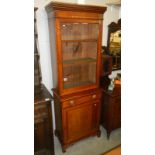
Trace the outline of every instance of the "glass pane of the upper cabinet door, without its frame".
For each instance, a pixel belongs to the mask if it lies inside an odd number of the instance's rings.
[[[99,24],[61,23],[63,89],[96,83]]]

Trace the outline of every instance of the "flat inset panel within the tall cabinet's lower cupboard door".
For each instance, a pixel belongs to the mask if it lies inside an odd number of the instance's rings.
[[[74,140],[91,131],[92,114],[92,104],[70,108],[66,111],[68,140]]]

